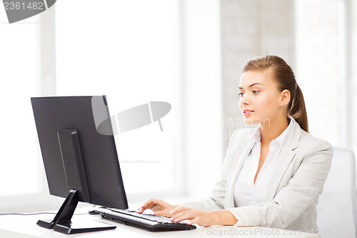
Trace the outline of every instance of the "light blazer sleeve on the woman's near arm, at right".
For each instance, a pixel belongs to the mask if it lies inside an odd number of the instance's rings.
[[[318,139],[313,152],[302,159],[286,187],[278,191],[272,202],[258,206],[229,209],[238,219],[236,226],[262,226],[285,229],[311,206],[323,189],[331,167],[331,144]]]

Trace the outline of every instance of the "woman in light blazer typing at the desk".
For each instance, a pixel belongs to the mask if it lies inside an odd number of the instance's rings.
[[[211,196],[181,206],[149,199],[151,209],[174,222],[262,226],[317,232],[316,204],[333,149],[308,134],[303,94],[278,56],[247,61],[239,83],[240,109],[255,129],[233,132]]]

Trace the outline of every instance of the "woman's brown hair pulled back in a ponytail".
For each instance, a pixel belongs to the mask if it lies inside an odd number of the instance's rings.
[[[308,115],[306,114],[303,92],[296,83],[291,67],[280,57],[267,55],[247,61],[243,66],[242,72],[263,69],[269,69],[269,71],[272,72],[273,80],[276,81],[280,91],[283,91],[284,89],[290,91],[291,99],[288,104],[287,113],[288,115],[293,116],[293,119],[298,122],[301,129],[308,132]]]

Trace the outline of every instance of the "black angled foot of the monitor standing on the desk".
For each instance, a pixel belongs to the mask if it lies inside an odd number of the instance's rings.
[[[64,200],[59,212],[57,212],[54,219],[51,220],[39,220],[37,224],[40,227],[44,227],[47,229],[54,229],[56,232],[61,232],[64,234],[77,234],[77,233],[84,233],[84,232],[97,232],[97,231],[104,231],[107,229],[115,229],[116,226],[111,224],[106,224],[104,222],[96,222],[94,227],[75,227],[72,222],[71,218],[73,217],[74,210],[77,207],[79,202],[79,194],[76,190],[70,190],[69,195]]]

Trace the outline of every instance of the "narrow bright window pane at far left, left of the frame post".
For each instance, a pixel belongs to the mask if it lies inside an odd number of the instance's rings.
[[[38,193],[39,151],[31,96],[36,96],[37,18],[9,24],[0,11],[1,197]]]

